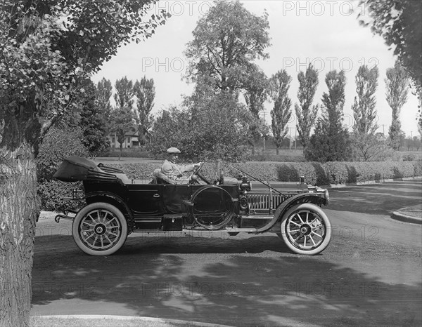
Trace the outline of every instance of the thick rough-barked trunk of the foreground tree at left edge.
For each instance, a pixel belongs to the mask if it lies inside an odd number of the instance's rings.
[[[30,145],[0,154],[0,326],[28,326],[40,212],[36,163]]]

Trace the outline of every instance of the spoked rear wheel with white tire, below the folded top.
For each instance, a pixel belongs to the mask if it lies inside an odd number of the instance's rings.
[[[91,203],[77,213],[72,224],[76,245],[89,255],[110,255],[127,239],[127,222],[110,203]]]

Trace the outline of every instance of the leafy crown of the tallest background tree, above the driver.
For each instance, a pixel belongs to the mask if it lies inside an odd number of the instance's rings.
[[[268,58],[264,53],[269,46],[267,16],[253,15],[239,1],[215,1],[198,20],[193,41],[187,45],[188,79],[198,82],[207,76],[207,83],[219,91],[243,89],[255,71],[253,61]]]

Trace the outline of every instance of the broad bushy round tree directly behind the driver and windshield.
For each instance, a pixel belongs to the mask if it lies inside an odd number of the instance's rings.
[[[153,126],[150,149],[160,156],[177,145],[185,159],[237,161],[248,158],[248,129],[253,121],[248,109],[229,93],[194,93],[185,100],[189,107],[171,107]]]

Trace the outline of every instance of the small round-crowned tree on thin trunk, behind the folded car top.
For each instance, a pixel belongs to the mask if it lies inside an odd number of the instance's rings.
[[[115,133],[117,142],[120,143],[119,160],[122,156],[126,133],[135,129],[134,118],[134,112],[128,107],[117,107],[110,113],[110,120],[108,121],[110,131]]]

